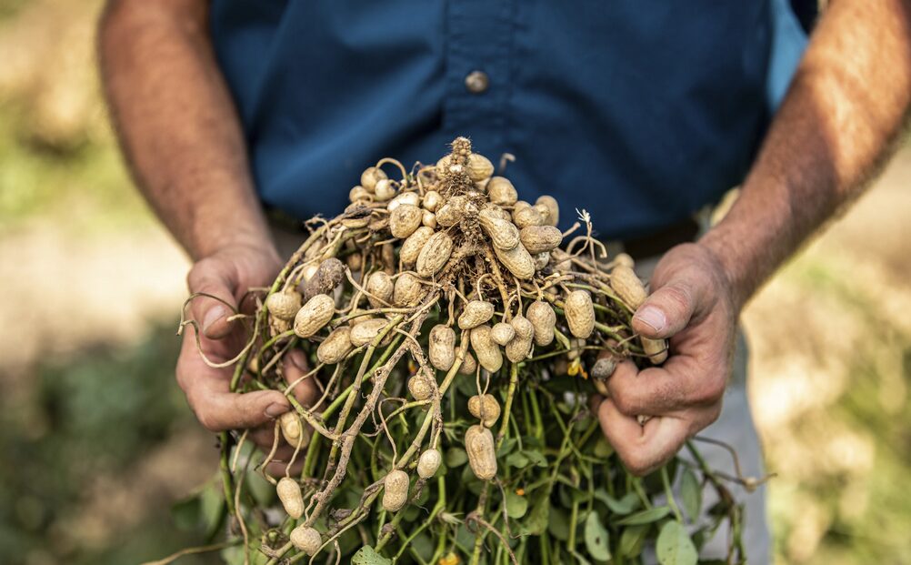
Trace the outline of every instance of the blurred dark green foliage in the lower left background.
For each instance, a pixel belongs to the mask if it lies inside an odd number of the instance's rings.
[[[46,360],[29,375],[27,402],[0,402],[4,563],[119,565],[204,541],[195,523],[175,527],[170,500],[141,492],[157,490],[150,454],[195,432],[174,385],[178,345],[174,324],[159,325],[128,349],[97,344]],[[214,439],[207,447],[214,453]]]

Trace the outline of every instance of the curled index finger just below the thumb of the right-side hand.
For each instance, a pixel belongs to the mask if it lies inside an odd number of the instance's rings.
[[[643,370],[631,361],[617,366],[607,385],[614,406],[626,416],[661,416],[693,406],[711,406],[724,394],[726,375],[719,363],[674,355],[660,367]]]

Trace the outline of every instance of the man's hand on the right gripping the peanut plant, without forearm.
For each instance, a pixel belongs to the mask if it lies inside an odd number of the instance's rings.
[[[644,475],[718,418],[731,373],[738,308],[722,265],[698,243],[670,250],[651,279],[633,329],[670,338],[660,367],[617,366],[609,398],[595,400],[601,429],[630,472]],[[640,426],[637,416],[651,416]]]

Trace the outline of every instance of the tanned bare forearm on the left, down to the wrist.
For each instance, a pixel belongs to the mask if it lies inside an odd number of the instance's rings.
[[[271,246],[207,12],[201,0],[112,0],[99,35],[130,170],[194,260],[230,245]]]

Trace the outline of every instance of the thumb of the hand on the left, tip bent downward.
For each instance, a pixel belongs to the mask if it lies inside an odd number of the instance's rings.
[[[200,296],[190,304],[190,312],[200,324],[202,333],[211,339],[220,339],[230,334],[234,324],[228,318],[237,311],[237,300],[234,297],[237,276],[233,269],[225,262],[203,259],[190,269],[187,285],[190,293],[211,294],[220,299]]]

